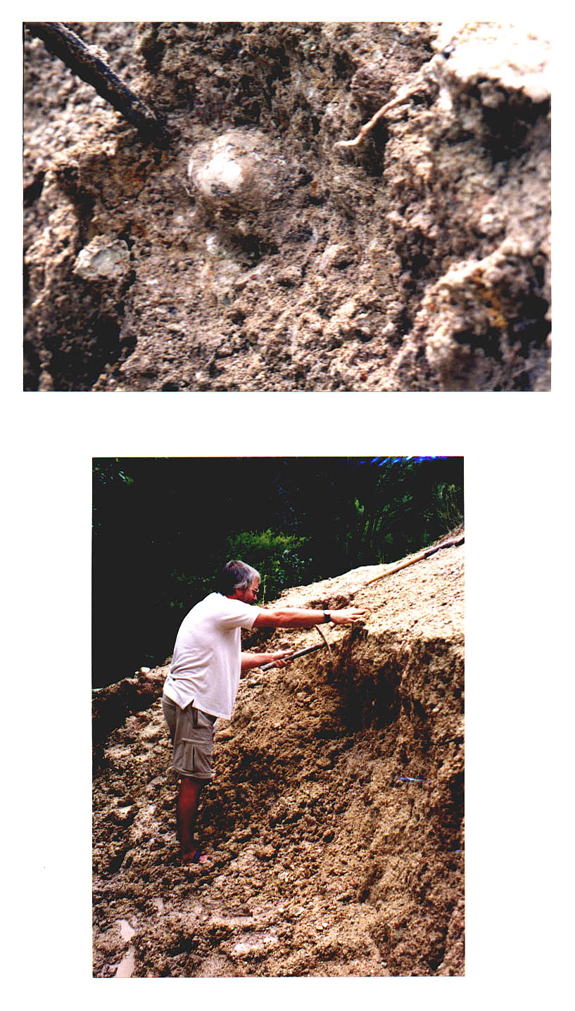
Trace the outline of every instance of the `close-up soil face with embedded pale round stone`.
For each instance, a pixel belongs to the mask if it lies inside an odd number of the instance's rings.
[[[173,140],[145,147],[26,39],[26,389],[550,387],[545,39],[71,26]]]

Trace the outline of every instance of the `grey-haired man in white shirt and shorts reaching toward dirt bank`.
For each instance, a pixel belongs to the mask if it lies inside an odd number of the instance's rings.
[[[218,591],[209,593],[184,618],[176,638],[162,706],[174,746],[174,768],[180,775],[177,801],[182,864],[208,860],[194,841],[203,787],[213,777],[211,754],[217,717],[229,720],[243,670],[275,663],[283,667],[293,651],[243,653],[241,629],[301,629],[333,622],[348,625],[364,612],[311,611],[256,607],[260,573],[242,561],[230,561]]]

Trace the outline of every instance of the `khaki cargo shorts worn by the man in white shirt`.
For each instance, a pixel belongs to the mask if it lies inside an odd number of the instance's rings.
[[[192,703],[182,709],[168,696],[162,696],[162,709],[174,745],[176,772],[194,779],[213,779],[211,754],[215,716],[195,709]]]

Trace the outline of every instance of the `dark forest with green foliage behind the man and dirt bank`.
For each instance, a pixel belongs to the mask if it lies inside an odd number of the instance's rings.
[[[261,571],[266,603],[462,521],[462,457],[94,459],[94,687],[163,663],[229,558]]]

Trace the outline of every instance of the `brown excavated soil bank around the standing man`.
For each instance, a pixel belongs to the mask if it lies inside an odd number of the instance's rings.
[[[282,596],[366,621],[241,682],[200,809],[209,865],[178,862],[168,667],[94,693],[96,977],[463,975],[464,548],[365,585],[381,571]]]

